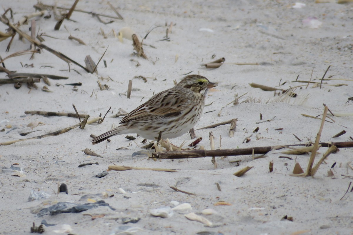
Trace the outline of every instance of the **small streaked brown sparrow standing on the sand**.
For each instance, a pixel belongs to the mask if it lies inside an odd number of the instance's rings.
[[[152,96],[121,119],[120,126],[92,140],[100,143],[113,135],[137,133],[146,139],[175,138],[189,131],[200,119],[207,90],[217,86],[207,78],[188,75],[177,85]]]

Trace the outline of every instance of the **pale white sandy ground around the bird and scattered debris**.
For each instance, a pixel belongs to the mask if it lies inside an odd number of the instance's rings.
[[[44,1],[54,4],[54,1]],[[58,6],[71,7],[73,1],[58,1]],[[54,31],[56,21],[38,19],[37,31],[53,37],[44,37],[46,44],[53,49],[84,64],[86,55],[90,55],[97,62],[109,45],[104,60],[98,65],[98,74],[87,74],[76,65],[71,64],[71,72],[67,64],[53,54],[42,51],[33,60],[30,55],[20,56],[5,61],[9,70],[26,73],[48,73],[67,76],[68,80],[50,80],[49,89],[52,93],[41,89],[29,91],[25,85],[16,90],[13,85],[0,86],[0,121],[8,120],[12,128],[5,128],[2,124],[0,142],[24,138],[19,133],[35,131],[25,137],[54,132],[78,123],[75,118],[46,117],[40,115],[25,115],[26,110],[42,110],[52,112],[72,113],[72,104],[79,113],[89,114],[91,118],[100,113],[104,115],[112,106],[114,114],[119,108],[130,112],[142,102],[151,97],[153,92],[160,92],[173,86],[173,80],[179,81],[183,74],[199,73],[212,82],[217,82],[217,91],[209,92],[205,113],[195,128],[211,123],[217,123],[232,118],[238,118],[237,132],[233,138],[228,137],[229,125],[214,129],[196,131],[197,137],[204,139],[200,143],[205,149],[210,149],[209,131],[215,136],[218,148],[219,137],[222,136],[222,149],[233,149],[257,146],[275,146],[284,144],[298,144],[297,135],[303,141],[315,141],[321,121],[307,118],[301,114],[320,115],[323,113],[322,104],[325,103],[331,111],[338,113],[352,113],[353,102],[346,103],[348,97],[353,96],[352,81],[333,80],[324,81],[322,89],[310,84],[291,82],[299,75],[299,80],[321,79],[329,65],[331,68],[325,78],[353,79],[352,73],[352,36],[353,36],[353,4],[315,4],[305,1],[303,8],[294,9],[295,1],[110,1],[118,7],[124,20],[114,20],[112,24],[102,24],[89,14],[74,12],[71,19],[63,23],[59,31]],[[1,7],[11,7],[14,12],[14,22],[25,14],[34,12],[32,6],[35,0],[2,1]],[[115,16],[107,5],[107,1],[80,1],[76,7],[85,11],[109,14]],[[318,29],[304,26],[303,19],[316,17],[322,22]],[[102,17],[102,20],[110,19]],[[170,42],[158,41],[163,39],[170,22],[175,24],[170,34]],[[144,46],[149,60],[132,56],[131,41],[124,39],[121,43],[114,37],[112,30],[129,26],[144,37],[149,28],[162,25],[154,29],[144,43],[156,47]],[[66,26],[66,29],[64,28]],[[0,30],[6,26],[0,24]],[[30,34],[29,25],[20,27]],[[210,31],[200,31],[206,28]],[[101,29],[107,35],[103,38]],[[68,40],[70,34],[83,40],[87,46]],[[9,53],[5,53],[8,40],[0,43],[0,55],[5,58],[14,52],[29,48],[28,42],[18,41],[15,37]],[[220,68],[207,70],[201,66],[211,61],[211,56],[225,57],[226,62]],[[175,61],[176,56],[178,60]],[[151,61],[157,62],[153,64]],[[141,66],[136,67],[137,60]],[[32,64],[33,67],[22,67],[22,62]],[[237,66],[232,63],[259,63],[259,66]],[[41,67],[41,66],[52,66]],[[73,71],[77,70],[80,74]],[[133,79],[131,99],[126,98],[128,80],[134,76],[153,77],[143,83],[140,79]],[[1,77],[5,77],[2,73]],[[112,80],[107,81],[110,77]],[[107,84],[109,90],[98,91],[97,96],[92,91],[98,90],[97,80]],[[280,82],[281,81],[281,82]],[[315,80],[318,81],[318,80]],[[78,91],[72,86],[55,86],[55,83],[67,84],[82,82]],[[289,82],[281,88],[303,85],[295,91],[297,98],[289,98],[287,103],[268,103],[273,100],[274,92],[251,88],[249,83],[268,86],[278,86]],[[329,86],[345,83],[347,86]],[[43,82],[39,83],[42,88]],[[234,86],[235,85],[235,86]],[[234,88],[232,89],[232,87]],[[243,103],[237,106],[226,104],[232,102],[235,94],[243,95],[240,101],[248,97],[260,98],[262,103]],[[308,98],[304,101],[304,98]],[[277,96],[278,97],[278,96]],[[217,114],[223,108],[220,116]],[[259,114],[263,119],[276,118],[270,122],[259,122]],[[214,170],[211,158],[196,158],[189,160],[148,160],[146,156],[131,157],[140,148],[124,136],[111,138],[110,143],[92,146],[90,134],[101,134],[117,125],[120,118],[111,118],[110,112],[101,125],[87,125],[85,129],[73,129],[67,133],[23,141],[8,146],[0,146],[0,167],[10,167],[18,163],[24,168],[24,177],[0,175],[0,234],[30,234],[32,222],[39,225],[42,219],[53,227],[45,227],[45,234],[55,234],[63,224],[71,226],[72,234],[110,234],[114,228],[122,225],[122,217],[140,217],[136,224],[127,224],[142,229],[136,234],[353,234],[353,194],[346,192],[352,181],[353,170],[348,164],[353,160],[352,149],[340,149],[331,154],[312,177],[292,177],[295,161],[305,169],[310,155],[290,156],[293,160],[279,158],[287,156],[281,151],[269,152],[265,158],[253,160],[252,156],[231,156],[225,159],[217,158],[218,168]],[[353,136],[353,117],[333,117],[335,123],[325,122],[321,141],[349,141]],[[30,122],[45,123],[33,128],[26,127]],[[252,133],[259,127],[258,137]],[[283,131],[275,129],[283,128]],[[332,136],[342,130],[347,133],[338,138]],[[246,133],[248,131],[249,133]],[[249,143],[242,143],[244,138],[253,134]],[[135,135],[136,136],[136,135]],[[136,143],[141,146],[142,138]],[[191,142],[189,133],[173,139],[172,143],[180,145]],[[304,142],[301,142],[304,143]],[[116,150],[120,147],[127,149]],[[103,158],[85,155],[83,150],[91,150],[101,154]],[[319,149],[316,161],[321,158],[326,148]],[[234,161],[241,159],[237,167]],[[294,160],[295,159],[295,160]],[[269,173],[269,162],[274,162],[274,171]],[[82,168],[81,163],[98,162],[99,165],[88,165]],[[327,172],[333,163],[334,176],[328,177]],[[108,165],[125,165],[146,168],[178,169],[177,172],[156,172],[148,170],[109,171],[103,178],[94,177],[97,173],[108,168]],[[287,164],[287,165],[285,165]],[[352,163],[351,163],[352,164]],[[242,177],[233,175],[235,171],[246,167],[254,168]],[[345,175],[345,176],[342,176]],[[350,176],[350,178],[346,177]],[[26,180],[26,181],[24,181]],[[58,183],[66,183],[69,194],[55,195]],[[221,191],[215,183],[219,183]],[[181,190],[196,195],[186,195],[175,192],[169,186],[177,185]],[[119,188],[126,191],[121,193]],[[105,199],[106,203],[114,207],[88,210],[81,213],[66,213],[55,216],[36,217],[30,213],[29,207],[36,206],[41,201],[28,202],[30,191],[42,191],[51,194],[49,200],[78,201],[84,194],[107,192],[114,197]],[[81,195],[72,195],[83,193]],[[124,198],[127,196],[128,198]],[[150,215],[151,209],[171,206],[170,201],[190,203],[189,211],[175,212],[170,218],[159,218]],[[215,206],[218,201],[226,201],[232,205]],[[214,209],[217,213],[203,215],[213,223],[211,227],[189,221],[184,214],[195,212],[198,215],[206,208]],[[258,208],[258,209],[253,209]],[[253,209],[253,210],[252,210]],[[102,218],[91,220],[85,215],[104,214]],[[280,221],[285,215],[293,217],[291,221]],[[66,233],[67,234],[67,233]]]

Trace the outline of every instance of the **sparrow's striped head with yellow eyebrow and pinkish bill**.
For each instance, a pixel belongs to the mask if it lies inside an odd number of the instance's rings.
[[[202,95],[206,95],[207,90],[209,88],[213,88],[217,86],[216,83],[210,82],[207,78],[200,75],[188,75],[181,79],[181,81],[177,84],[177,86],[181,86],[186,89],[190,89],[193,92],[200,93]]]

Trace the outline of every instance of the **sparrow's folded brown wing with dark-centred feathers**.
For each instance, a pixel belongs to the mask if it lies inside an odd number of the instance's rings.
[[[120,123],[149,122],[179,116],[190,99],[179,90],[166,90],[150,98],[146,103],[127,114]]]

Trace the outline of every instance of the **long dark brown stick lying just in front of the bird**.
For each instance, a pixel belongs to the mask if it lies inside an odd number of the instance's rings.
[[[336,147],[353,147],[353,141],[347,142],[332,142],[332,143],[319,143],[322,147],[330,147],[335,145]],[[189,150],[189,151],[169,151],[169,152],[158,152],[152,153],[151,158],[158,159],[181,159],[181,158],[198,158],[198,157],[221,157],[221,156],[239,156],[239,155],[252,155],[252,154],[265,154],[271,150],[278,150],[285,147],[291,146],[305,146],[306,144],[292,144],[282,146],[264,146],[264,147],[253,147],[244,149],[222,149],[222,150]]]

